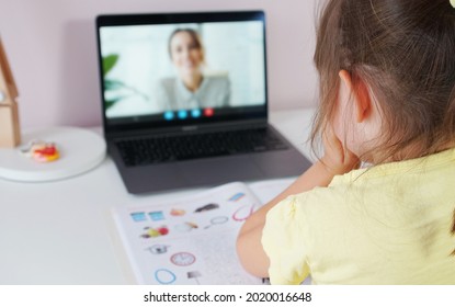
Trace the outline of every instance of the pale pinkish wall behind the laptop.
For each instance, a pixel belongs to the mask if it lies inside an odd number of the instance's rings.
[[[316,103],[317,0],[0,0],[0,35],[21,126],[101,124],[94,18],[101,13],[262,9],[271,109]]]

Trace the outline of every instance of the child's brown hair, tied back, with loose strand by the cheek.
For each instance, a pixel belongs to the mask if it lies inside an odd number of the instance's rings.
[[[338,73],[345,69],[354,87],[359,80],[367,84],[385,118],[374,162],[454,145],[455,9],[450,0],[328,1],[315,62],[320,109],[312,140],[330,123]]]

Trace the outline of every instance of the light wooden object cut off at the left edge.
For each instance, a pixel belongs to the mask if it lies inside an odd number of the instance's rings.
[[[16,147],[21,143],[19,125],[18,88],[8,64],[0,37],[0,148]]]

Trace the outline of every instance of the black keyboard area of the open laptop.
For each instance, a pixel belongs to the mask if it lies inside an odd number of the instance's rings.
[[[268,128],[144,137],[116,144],[127,167],[288,148]]]

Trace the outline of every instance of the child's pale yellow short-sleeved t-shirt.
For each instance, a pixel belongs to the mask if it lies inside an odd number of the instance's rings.
[[[455,284],[455,149],[354,170],[272,208],[272,284]]]

